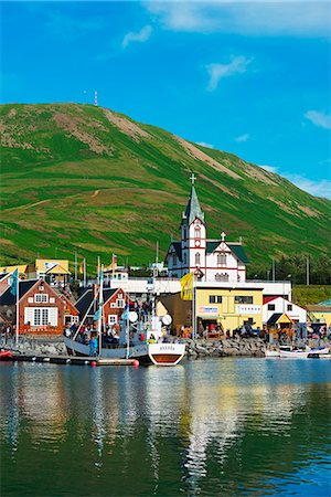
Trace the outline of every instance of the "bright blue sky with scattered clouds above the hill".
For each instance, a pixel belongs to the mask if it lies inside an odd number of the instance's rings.
[[[1,103],[98,103],[331,198],[331,2],[1,4]]]

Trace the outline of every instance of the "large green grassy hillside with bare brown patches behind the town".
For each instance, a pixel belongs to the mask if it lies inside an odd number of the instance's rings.
[[[331,202],[231,154],[89,105],[3,105],[0,118],[2,264],[75,250],[89,272],[113,252],[148,263],[178,235],[190,171],[209,236],[243,236],[253,272],[327,254]]]

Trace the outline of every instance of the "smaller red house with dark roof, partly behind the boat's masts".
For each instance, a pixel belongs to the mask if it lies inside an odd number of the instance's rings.
[[[94,320],[95,313],[98,309],[98,299],[96,298],[96,287],[87,288],[82,297],[76,302],[75,308],[79,313],[81,319],[92,322]],[[115,326],[119,322],[119,319],[125,310],[125,307],[134,305],[134,302],[128,297],[121,288],[104,288],[104,319],[109,326]]]

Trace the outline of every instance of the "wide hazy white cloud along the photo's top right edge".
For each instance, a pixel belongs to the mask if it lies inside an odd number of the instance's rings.
[[[150,1],[145,7],[173,31],[330,36],[330,3],[322,1]]]

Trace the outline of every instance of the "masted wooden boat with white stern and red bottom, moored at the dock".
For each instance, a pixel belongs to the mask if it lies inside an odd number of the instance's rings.
[[[103,295],[104,295],[104,271],[99,273],[99,292],[98,292],[98,309],[95,314],[97,320],[97,337],[98,337],[98,358],[109,359],[137,359],[143,364],[156,366],[175,366],[185,353],[184,343],[164,343],[159,341],[161,339],[160,331],[156,326],[156,316],[152,316],[148,322],[138,320],[138,314],[129,310],[127,305],[126,310],[121,316],[120,330],[118,343],[103,343]],[[154,303],[153,303],[154,308]],[[89,311],[89,309],[88,309]],[[87,313],[88,313],[87,311]],[[87,315],[86,313],[86,315]],[[164,319],[166,318],[166,319]],[[164,316],[163,324],[171,322],[170,316]],[[157,318],[158,319],[158,318]],[[68,355],[89,357],[90,348],[86,343],[77,340],[79,329],[84,324],[81,322],[76,334],[73,337],[64,337]]]

